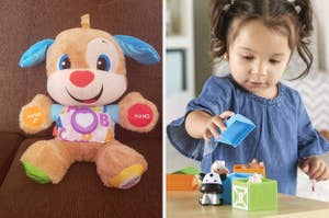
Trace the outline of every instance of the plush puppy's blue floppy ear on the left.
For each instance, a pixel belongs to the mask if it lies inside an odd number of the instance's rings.
[[[20,67],[26,68],[41,64],[46,59],[48,47],[54,39],[46,38],[32,45],[21,57]]]

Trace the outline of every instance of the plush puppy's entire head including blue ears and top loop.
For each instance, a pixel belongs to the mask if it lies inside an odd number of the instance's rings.
[[[105,105],[127,88],[125,55],[140,64],[155,64],[159,55],[147,43],[126,35],[89,27],[64,31],[55,41],[34,44],[22,56],[20,66],[31,67],[46,59],[47,91],[63,105]]]

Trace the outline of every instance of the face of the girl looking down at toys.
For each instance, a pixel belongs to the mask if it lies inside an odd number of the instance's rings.
[[[228,49],[230,72],[238,84],[265,99],[277,95],[277,82],[292,54],[287,36],[252,20],[242,25]]]

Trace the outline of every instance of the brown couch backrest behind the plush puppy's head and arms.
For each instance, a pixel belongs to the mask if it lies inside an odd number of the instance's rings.
[[[21,55],[43,38],[80,26],[90,13],[91,27],[139,37],[161,55],[162,1],[154,0],[2,0],[0,7],[0,131],[20,131],[21,106],[46,93],[45,65],[20,69]],[[127,59],[128,90],[139,91],[161,108],[161,64],[143,66]],[[161,110],[160,110],[161,111]],[[52,129],[39,135],[50,135]],[[122,131],[118,137],[139,137]],[[161,123],[146,137],[161,137]]]

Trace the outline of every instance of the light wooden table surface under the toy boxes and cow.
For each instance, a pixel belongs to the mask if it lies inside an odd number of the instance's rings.
[[[266,211],[246,211],[235,209],[230,205],[201,206],[200,192],[167,192],[167,217],[329,217],[329,203],[279,194],[279,209]]]

